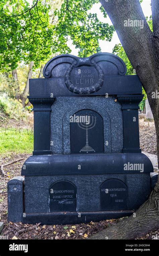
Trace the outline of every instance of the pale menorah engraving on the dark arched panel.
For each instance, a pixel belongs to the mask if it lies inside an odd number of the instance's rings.
[[[91,120],[92,119],[92,120]],[[90,116],[90,123],[87,124],[86,122],[78,122],[78,126],[81,129],[86,130],[86,145],[81,148],[80,153],[81,152],[92,152],[95,150],[89,145],[89,141],[88,141],[88,130],[92,129],[94,126],[96,125],[96,116]]]

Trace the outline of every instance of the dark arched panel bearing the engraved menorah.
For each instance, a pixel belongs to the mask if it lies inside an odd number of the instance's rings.
[[[70,116],[71,154],[104,153],[103,118],[94,110],[82,109]]]

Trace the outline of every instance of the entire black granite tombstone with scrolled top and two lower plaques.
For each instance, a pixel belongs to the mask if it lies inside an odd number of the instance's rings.
[[[44,79],[30,79],[34,151],[24,178],[8,182],[9,221],[88,223],[129,216],[148,199],[153,166],[139,143],[142,84],[125,73],[114,54],[65,54],[47,62]]]

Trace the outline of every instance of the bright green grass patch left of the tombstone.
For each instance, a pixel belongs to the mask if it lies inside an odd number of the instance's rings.
[[[33,131],[28,129],[0,128],[0,154],[32,153]]]

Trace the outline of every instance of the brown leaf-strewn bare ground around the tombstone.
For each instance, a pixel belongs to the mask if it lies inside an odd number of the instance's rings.
[[[140,123],[141,147],[144,152],[151,154],[156,153],[154,123]],[[29,154],[11,153],[9,156],[0,158],[0,165],[8,163],[17,158],[24,157],[27,159]],[[118,220],[103,220],[99,223],[75,224],[74,225],[36,225],[7,222],[7,182],[15,177],[20,176],[21,167],[24,160],[10,164],[4,167],[5,177],[0,177],[0,221],[4,222],[2,230],[3,235],[7,235],[8,239],[87,239],[91,235],[115,225]],[[1,174],[0,174],[1,175]],[[159,239],[159,230],[150,232],[143,237],[137,239]]]

